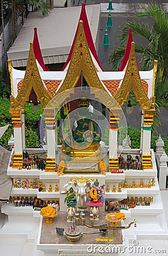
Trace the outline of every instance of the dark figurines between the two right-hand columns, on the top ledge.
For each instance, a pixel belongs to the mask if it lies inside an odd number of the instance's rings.
[[[127,159],[124,159],[123,156],[119,156],[119,168],[124,170],[143,170],[142,157],[141,155],[136,155],[133,159],[131,154],[127,155]]]

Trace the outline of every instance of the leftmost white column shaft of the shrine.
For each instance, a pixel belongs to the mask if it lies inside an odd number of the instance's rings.
[[[14,126],[15,154],[22,154],[22,125]]]

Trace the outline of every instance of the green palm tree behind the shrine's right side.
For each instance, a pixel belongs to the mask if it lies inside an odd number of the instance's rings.
[[[141,13],[136,15],[137,18],[149,17],[152,19],[152,26],[146,23],[139,23],[134,19],[129,20],[122,25],[117,35],[117,40],[121,43],[109,56],[109,63],[112,70],[116,70],[120,64],[126,46],[125,40],[128,38],[129,28],[132,28],[132,34],[141,36],[146,39],[146,46],[140,44],[135,45],[135,51],[141,57],[141,70],[147,71],[153,67],[154,60],[158,60],[157,79],[155,86],[156,96],[156,115],[154,115],[153,130],[156,126],[161,125],[159,117],[159,108],[168,109],[168,17],[165,10],[158,5],[151,3],[142,7]],[[130,96],[131,97],[131,96]],[[131,101],[135,105],[135,98],[131,97]]]

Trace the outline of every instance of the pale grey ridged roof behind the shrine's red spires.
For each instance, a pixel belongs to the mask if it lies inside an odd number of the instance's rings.
[[[48,16],[41,11],[30,13],[14,44],[7,52],[13,67],[26,67],[33,28],[37,27],[45,64],[65,63],[77,29],[80,7],[52,9]],[[86,6],[87,18],[96,50],[99,43],[100,5]]]

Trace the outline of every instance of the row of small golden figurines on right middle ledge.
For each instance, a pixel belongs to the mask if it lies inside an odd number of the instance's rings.
[[[155,186],[156,181],[154,180],[154,177],[152,178],[152,180],[149,180],[148,184],[144,184],[144,181],[141,179],[140,183],[136,184],[135,180],[132,181],[132,184],[127,184],[127,181],[124,181],[124,184],[120,184],[118,186],[117,192],[122,192],[121,188],[151,188]],[[110,186],[107,184],[106,187],[106,192],[109,193],[110,192]],[[116,192],[116,185],[114,184],[112,187],[112,192]]]

